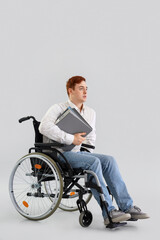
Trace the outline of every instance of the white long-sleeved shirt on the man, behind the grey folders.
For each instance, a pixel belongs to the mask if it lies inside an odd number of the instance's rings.
[[[93,130],[86,136],[86,140],[83,143],[90,144],[95,146],[96,141],[96,113],[92,108],[87,107],[83,104],[83,108],[80,112],[79,108],[75,104],[73,104],[70,100],[65,103],[54,104],[49,110],[46,112],[44,117],[42,118],[41,124],[39,126],[39,131],[43,135],[44,142],[52,142],[52,140],[57,141],[62,144],[70,145],[73,143],[74,135],[66,133],[62,131],[57,125],[55,125],[55,121],[59,117],[60,114],[66,110],[67,107],[75,108],[82,117],[90,124]],[[76,145],[72,151],[78,152],[80,151],[81,145]],[[63,152],[62,149],[57,148],[59,151]],[[91,148],[88,149],[90,152],[93,152]]]

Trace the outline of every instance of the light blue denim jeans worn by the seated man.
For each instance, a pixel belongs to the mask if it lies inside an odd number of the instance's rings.
[[[108,204],[108,211],[115,209],[115,207],[112,205],[112,199],[107,190],[106,183],[114,196],[118,207],[122,211],[125,212],[133,206],[133,200],[128,194],[126,185],[119,172],[118,165],[113,157],[89,152],[68,151],[63,154],[73,168],[91,170],[97,174],[105,200]],[[100,205],[99,193],[93,188],[91,191]],[[102,209],[102,215],[104,219],[107,217],[105,209]]]

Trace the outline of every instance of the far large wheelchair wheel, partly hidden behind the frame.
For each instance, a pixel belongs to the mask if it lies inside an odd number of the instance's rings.
[[[78,181],[78,183],[83,186],[84,185],[84,179],[80,178],[80,180]],[[74,186],[70,192],[67,195],[67,198],[63,198],[61,199],[61,202],[59,204],[59,208],[64,210],[64,211],[77,211],[78,210],[78,206],[77,206],[77,200],[79,199],[79,195],[78,195],[78,187]],[[91,200],[92,197],[92,193],[85,193],[83,195],[83,199],[86,202],[86,204],[89,203],[89,201]]]

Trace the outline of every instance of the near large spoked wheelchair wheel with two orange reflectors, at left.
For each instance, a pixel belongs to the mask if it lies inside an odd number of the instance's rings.
[[[46,191],[46,185],[51,192]],[[15,165],[9,192],[21,215],[31,220],[45,219],[57,209],[62,198],[63,180],[59,168],[45,154],[30,153]]]

